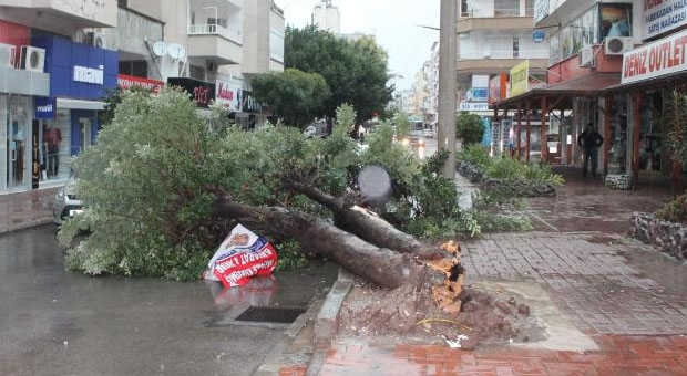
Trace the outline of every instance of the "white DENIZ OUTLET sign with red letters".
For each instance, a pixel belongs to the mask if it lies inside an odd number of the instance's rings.
[[[687,71],[687,31],[642,45],[623,55],[621,83]]]

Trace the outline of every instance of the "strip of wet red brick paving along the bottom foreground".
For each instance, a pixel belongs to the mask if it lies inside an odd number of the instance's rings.
[[[353,342],[332,345],[319,375],[687,375],[685,336],[601,335],[594,338],[601,349],[584,353],[516,346],[474,352],[438,345],[376,347],[351,340]]]

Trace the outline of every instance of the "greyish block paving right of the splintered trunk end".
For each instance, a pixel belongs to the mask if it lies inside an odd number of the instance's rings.
[[[687,296],[628,263],[628,253],[643,252],[656,257],[621,237],[529,232],[465,241],[461,260],[469,280],[543,284],[587,334],[687,334]]]

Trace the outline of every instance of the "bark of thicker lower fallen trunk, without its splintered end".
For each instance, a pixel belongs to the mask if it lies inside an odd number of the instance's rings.
[[[218,194],[215,213],[235,219],[244,226],[296,239],[304,250],[330,258],[355,274],[381,286],[397,289],[406,284],[434,285],[448,280],[445,271],[431,268],[410,254],[370,244],[304,212],[236,203],[228,195]]]

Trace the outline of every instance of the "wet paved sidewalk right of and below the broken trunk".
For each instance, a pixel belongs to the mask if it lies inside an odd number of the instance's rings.
[[[516,294],[548,340],[468,352],[339,335],[317,344],[319,364],[279,375],[687,375],[687,267],[625,237],[669,187],[613,191],[562,173],[557,197],[529,201],[535,231],[462,242],[468,283]]]

